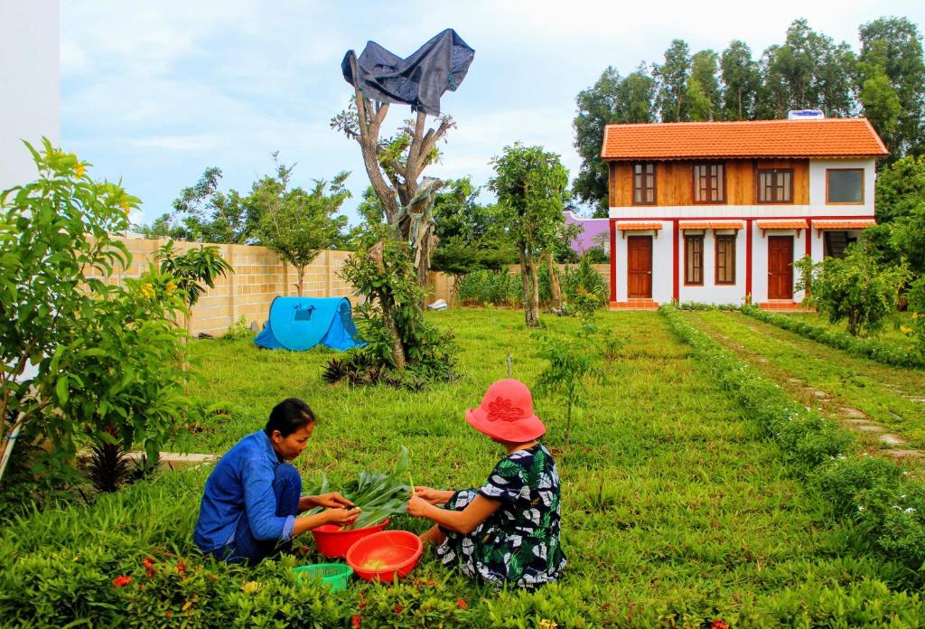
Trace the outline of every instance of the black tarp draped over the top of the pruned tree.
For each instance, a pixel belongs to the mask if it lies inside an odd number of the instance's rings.
[[[344,79],[370,100],[411,105],[413,111],[438,116],[440,96],[447,90],[456,91],[474,56],[475,50],[456,31],[447,29],[407,59],[392,55],[376,42],[367,42],[360,58],[348,51],[340,69]]]

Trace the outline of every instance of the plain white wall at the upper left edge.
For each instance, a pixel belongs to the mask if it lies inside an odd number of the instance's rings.
[[[0,2],[0,191],[36,178],[33,145],[61,143],[57,0]]]

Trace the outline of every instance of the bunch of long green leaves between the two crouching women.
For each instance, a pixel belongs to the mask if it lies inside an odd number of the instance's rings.
[[[349,528],[363,528],[378,524],[392,515],[407,510],[408,499],[413,487],[405,484],[410,481],[408,471],[408,449],[402,447],[398,462],[389,474],[376,470],[364,470],[343,487],[340,492],[363,511]]]

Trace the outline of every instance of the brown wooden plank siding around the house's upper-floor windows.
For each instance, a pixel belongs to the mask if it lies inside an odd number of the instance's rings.
[[[809,204],[809,160],[736,159],[722,161],[725,165],[725,205],[752,205],[758,203],[758,171],[765,169],[792,169],[794,171],[795,205]],[[656,164],[656,205],[675,206],[694,203],[693,161],[662,161]],[[633,207],[633,165],[630,162],[611,162],[608,168],[611,207]],[[646,207],[646,206],[640,206]],[[649,205],[648,207],[651,207]]]

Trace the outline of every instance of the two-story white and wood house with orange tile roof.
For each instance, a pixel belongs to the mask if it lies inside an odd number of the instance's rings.
[[[866,118],[608,125],[611,306],[793,308],[793,262],[874,225]]]

